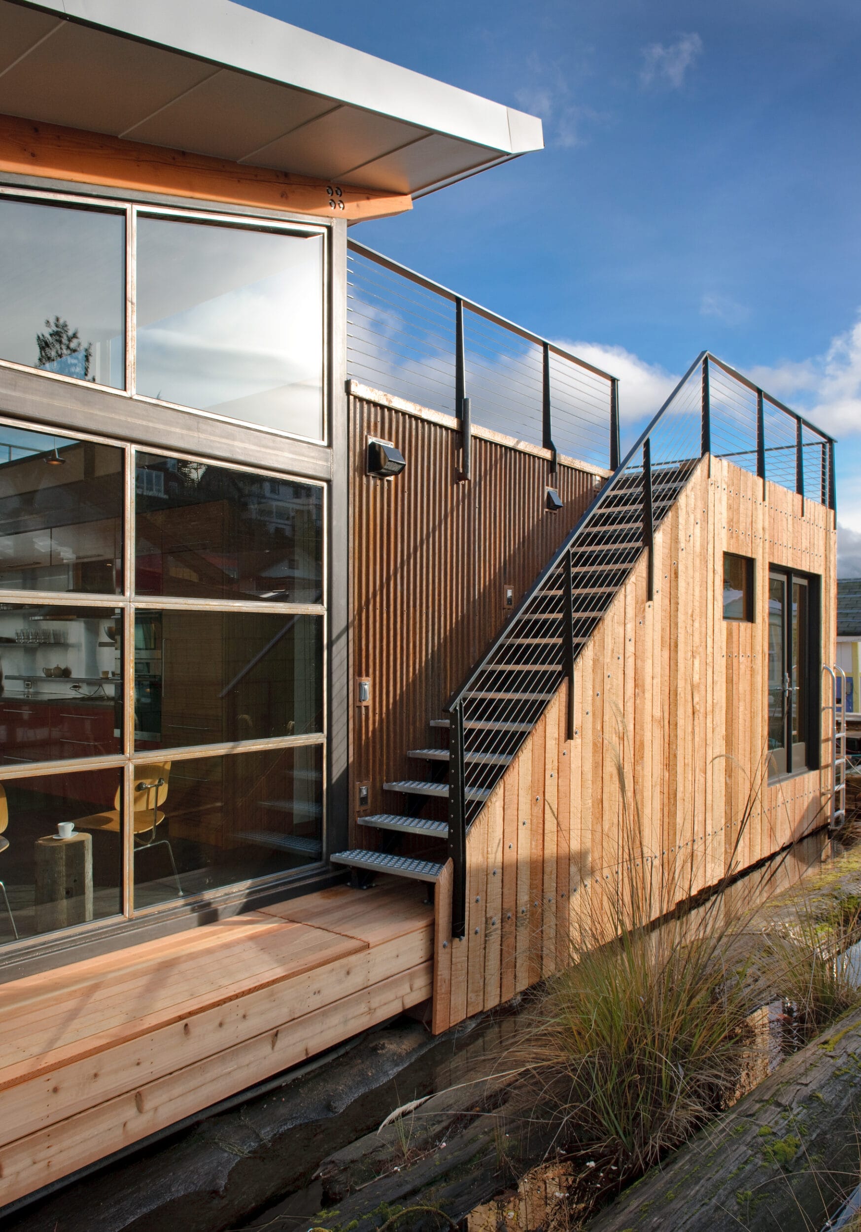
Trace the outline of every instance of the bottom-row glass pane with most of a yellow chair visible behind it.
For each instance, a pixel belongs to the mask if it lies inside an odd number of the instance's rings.
[[[149,806],[135,811],[137,909],[321,859],[323,745],[159,761],[134,775],[142,800],[163,780],[155,827]]]

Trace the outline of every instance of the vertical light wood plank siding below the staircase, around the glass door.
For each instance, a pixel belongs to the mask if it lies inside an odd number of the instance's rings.
[[[755,558],[756,620],[723,620],[723,552]],[[490,1009],[568,961],[578,913],[622,875],[622,786],[642,846],[686,892],[716,885],[825,821],[822,771],[761,781],[767,739],[769,565],[822,577],[822,659],[835,654],[834,514],[716,458],[695,471],[579,657],[575,734],[563,684],[467,837],[463,941],[437,925],[434,1029]],[[621,770],[621,774],[620,774]],[[743,824],[745,811],[749,814]],[[450,891],[439,903],[446,910]],[[440,934],[445,925],[448,931]]]

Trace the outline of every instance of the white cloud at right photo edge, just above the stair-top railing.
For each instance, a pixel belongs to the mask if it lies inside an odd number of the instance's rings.
[[[861,314],[824,355],[751,368],[748,375],[833,436],[861,432]]]

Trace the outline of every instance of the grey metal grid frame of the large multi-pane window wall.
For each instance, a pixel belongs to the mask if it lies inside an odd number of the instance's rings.
[[[127,217],[126,257],[126,389],[99,386],[60,373],[48,373],[28,365],[0,360],[0,424],[25,428],[36,432],[52,430],[76,440],[105,444],[124,451],[126,499],[123,511],[124,578],[121,595],[96,595],[53,591],[5,591],[0,601],[20,601],[33,605],[113,606],[123,611],[124,654],[133,654],[133,616],[135,605],[147,609],[176,607],[185,610],[259,610],[269,614],[298,612],[321,616],[323,628],[323,732],[308,736],[280,737],[270,740],[249,740],[229,745],[187,745],[171,749],[171,759],[187,760],[198,756],[223,756],[244,752],[276,748],[323,745],[323,855],[320,861],[301,869],[246,882],[234,882],[207,891],[182,903],[169,901],[152,908],[134,910],[132,893],[132,835],[126,837],[123,848],[123,914],[92,920],[57,933],[26,938],[4,945],[0,960],[0,981],[10,965],[25,967],[34,965],[43,970],[46,955],[64,955],[86,944],[100,952],[103,939],[106,946],[117,942],[117,935],[138,931],[145,917],[148,926],[154,920],[165,922],[169,930],[187,926],[195,912],[206,912],[207,918],[222,912],[233,914],[246,909],[249,903],[292,897],[320,885],[340,881],[340,873],[326,869],[329,850],[344,845],[347,825],[349,802],[349,548],[344,536],[334,533],[335,527],[346,526],[349,515],[349,445],[346,397],[346,223],[342,219],[309,219],[307,216],[230,206],[223,202],[190,202],[185,197],[171,197],[142,191],[117,192],[110,186],[84,185],[55,181],[44,177],[0,175],[0,200],[30,198],[55,205],[76,205],[96,211],[119,213]],[[134,261],[128,249],[133,248],[138,208],[140,212],[181,217],[208,224],[248,227],[287,234],[320,234],[324,238],[323,260],[323,320],[324,363],[323,404],[324,436],[313,440],[276,429],[249,424],[239,419],[220,416],[188,407],[179,407],[158,399],[129,393],[134,382],[134,347],[131,345],[134,329]],[[142,409],[144,413],[142,414]],[[95,431],[94,431],[95,420]],[[209,431],[202,420],[209,421]],[[223,425],[223,428],[222,428]],[[159,445],[152,444],[153,439]],[[201,441],[200,448],[195,444]],[[134,509],[134,453],[135,451],[168,457],[203,461],[212,466],[239,469],[255,476],[292,479],[310,483],[324,490],[323,533],[323,604],[256,604],[234,600],[187,600],[174,596],[135,596],[133,570],[133,533],[129,526]],[[235,461],[236,457],[241,461]],[[283,462],[282,462],[283,458]],[[133,748],[133,665],[123,664],[124,752],[117,756],[74,759],[52,763],[26,763],[21,766],[0,768],[0,780],[28,777],[46,772],[75,772],[94,769],[124,766],[124,798],[134,781],[134,766],[153,760],[154,752],[135,753]],[[11,772],[10,772],[11,771]],[[126,827],[126,829],[128,829]],[[172,924],[171,924],[172,922]],[[119,934],[118,934],[119,929]],[[110,939],[110,940],[108,940]]]

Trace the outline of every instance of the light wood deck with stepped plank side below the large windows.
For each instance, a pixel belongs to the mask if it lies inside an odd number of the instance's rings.
[[[0,986],[0,1205],[425,1000],[422,898],[339,886]]]

